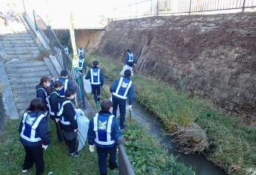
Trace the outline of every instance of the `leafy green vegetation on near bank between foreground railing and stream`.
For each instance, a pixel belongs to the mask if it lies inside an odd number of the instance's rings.
[[[105,89],[109,89],[105,84]],[[111,97],[109,91],[107,96]],[[87,100],[91,103],[95,112],[100,109],[96,107],[92,94],[86,94]],[[106,98],[105,92],[101,91],[101,100]],[[122,131],[125,140],[126,154],[136,174],[154,175],[192,175],[195,174],[191,168],[176,161],[173,155],[164,150],[163,146],[145,131],[137,121],[130,122],[129,112],[126,112],[126,129]]]

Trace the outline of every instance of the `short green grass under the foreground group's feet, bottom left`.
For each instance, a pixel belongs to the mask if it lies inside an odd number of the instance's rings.
[[[17,131],[20,120],[9,120],[5,126],[5,133],[0,137],[0,174],[23,174],[21,173],[23,160],[25,158],[25,151],[20,143],[19,134]],[[51,126],[51,124],[50,124]],[[55,128],[56,129],[56,128]],[[49,145],[55,150],[57,155],[61,158],[58,160],[57,156],[46,149],[44,151],[45,170],[52,171],[54,174],[99,174],[98,170],[98,156],[96,152],[89,152],[89,145],[80,151],[80,156],[71,158],[69,150],[66,145],[58,143],[56,134],[52,134],[52,143]],[[49,158],[47,152],[55,161],[55,165]],[[26,174],[35,174],[35,166],[28,170]],[[116,175],[118,170],[110,171],[108,174]]]

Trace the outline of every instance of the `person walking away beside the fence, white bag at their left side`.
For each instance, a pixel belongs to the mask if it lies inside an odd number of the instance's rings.
[[[98,61],[93,61],[92,64],[93,67],[87,72],[86,79],[90,79],[92,85],[92,94],[94,96],[95,103],[99,108],[101,87],[103,88],[104,84],[104,75],[102,70],[98,68]]]

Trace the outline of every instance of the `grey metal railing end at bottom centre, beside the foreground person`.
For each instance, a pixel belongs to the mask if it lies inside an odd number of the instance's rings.
[[[119,154],[119,174],[135,175],[132,165],[124,150],[123,137],[118,138],[118,154]]]

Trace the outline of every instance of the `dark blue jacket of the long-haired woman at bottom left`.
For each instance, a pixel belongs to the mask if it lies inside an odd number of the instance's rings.
[[[25,111],[27,112],[27,111]],[[24,112],[24,113],[25,113]],[[44,112],[39,112],[39,114],[36,116],[36,118],[39,117],[39,115],[43,114]],[[31,113],[30,115],[35,116],[35,112]],[[27,115],[23,115],[23,117],[21,118],[20,121],[20,127],[18,129],[19,134],[22,131],[22,127],[23,127],[23,118],[26,118]],[[29,146],[29,147],[36,147],[36,146],[42,146],[42,143],[44,143],[44,145],[48,145],[51,143],[50,137],[48,137],[48,129],[47,129],[47,117],[45,116],[44,118],[42,118],[42,120],[40,121],[38,127],[36,128],[36,133],[39,134],[39,137],[42,139],[41,141],[38,142],[30,142],[27,141],[25,139],[23,139],[22,137],[20,137],[20,142],[22,143],[23,146]]]

